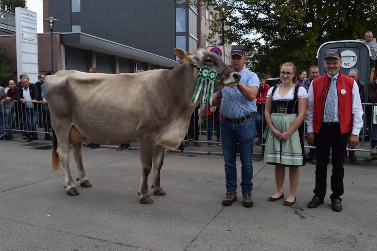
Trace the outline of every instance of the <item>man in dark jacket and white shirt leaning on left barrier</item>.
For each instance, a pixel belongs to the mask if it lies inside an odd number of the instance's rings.
[[[35,84],[30,84],[26,76],[21,78],[21,86],[22,89],[17,93],[17,100],[22,103],[23,128],[29,131],[26,132],[28,141],[37,140],[35,124],[38,122],[38,110],[36,102],[39,101],[40,93],[38,87]]]

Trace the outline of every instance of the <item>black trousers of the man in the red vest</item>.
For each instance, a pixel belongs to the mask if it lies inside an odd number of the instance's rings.
[[[333,162],[333,174],[331,175],[330,199],[340,199],[344,192],[344,154],[348,142],[348,133],[340,133],[339,123],[322,123],[321,129],[315,135],[317,165],[316,165],[316,188],[314,194],[320,198],[326,195],[327,165],[329,164],[330,147]]]

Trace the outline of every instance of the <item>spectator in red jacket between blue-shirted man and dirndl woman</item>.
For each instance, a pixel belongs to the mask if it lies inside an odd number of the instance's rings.
[[[270,86],[265,83],[266,76],[263,73],[257,73],[259,78],[259,89],[257,97],[255,98],[255,103],[257,105],[258,112],[255,115],[255,127],[257,129],[258,140],[255,142],[256,145],[263,144],[263,132],[267,127],[267,123],[264,119],[264,104],[266,103],[267,92]],[[264,146],[262,146],[262,155],[264,154]]]

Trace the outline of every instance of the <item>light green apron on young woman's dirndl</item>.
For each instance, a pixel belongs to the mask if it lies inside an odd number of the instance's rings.
[[[271,122],[275,129],[286,132],[292,126],[296,117],[297,115],[294,113],[272,113]],[[275,138],[267,127],[264,137],[266,138],[264,162],[290,166],[302,165],[302,148],[298,130],[295,130],[287,141],[281,141]]]

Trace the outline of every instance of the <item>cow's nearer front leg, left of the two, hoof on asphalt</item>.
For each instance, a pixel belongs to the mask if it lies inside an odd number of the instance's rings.
[[[139,141],[141,162],[141,181],[139,188],[139,199],[141,204],[153,203],[153,200],[150,198],[148,193],[148,175],[150,173],[150,170],[152,169],[152,157],[154,147],[154,142],[148,144],[143,141]]]

